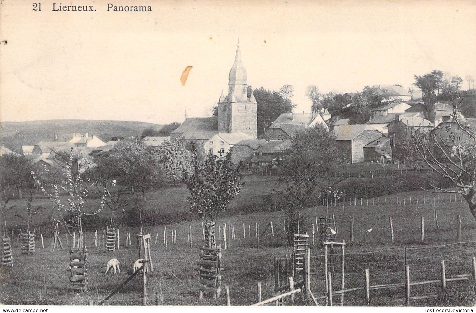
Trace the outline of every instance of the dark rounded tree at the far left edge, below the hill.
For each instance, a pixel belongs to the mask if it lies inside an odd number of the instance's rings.
[[[30,172],[35,167],[29,156],[7,153],[0,156],[0,188],[4,192],[10,186],[18,191],[18,196],[23,197],[23,187],[34,186]]]

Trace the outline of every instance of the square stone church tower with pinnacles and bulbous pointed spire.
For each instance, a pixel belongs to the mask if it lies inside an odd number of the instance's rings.
[[[247,75],[241,62],[241,51],[238,49],[235,62],[228,75],[228,96],[223,95],[218,100],[218,132],[219,133],[245,133],[253,138],[258,137],[256,99],[253,91],[248,98]]]

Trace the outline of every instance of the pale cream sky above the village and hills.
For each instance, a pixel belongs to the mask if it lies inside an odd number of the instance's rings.
[[[112,1],[112,0],[109,0]],[[248,85],[322,92],[414,82],[440,69],[476,78],[476,1],[112,1],[152,12],[0,7],[0,120],[165,124],[211,114],[228,89],[238,37]],[[185,86],[180,75],[192,66]],[[467,81],[463,82],[463,89]]]

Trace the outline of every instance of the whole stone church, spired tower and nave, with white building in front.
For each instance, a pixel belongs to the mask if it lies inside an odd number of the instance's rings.
[[[228,95],[225,97],[222,91],[218,99],[218,117],[186,118],[177,129],[172,131],[170,139],[183,137],[187,142],[194,142],[200,154],[208,153],[210,148],[215,149],[210,145],[215,145],[215,140],[211,138],[217,134],[220,134],[222,139],[224,139],[223,136],[228,136],[228,140],[233,142],[228,143],[228,146],[233,146],[243,139],[256,139],[258,136],[256,110],[257,102],[252,90],[248,97],[247,73],[241,61],[238,45],[235,61],[228,75]],[[239,140],[236,141],[235,137]],[[210,141],[214,143],[210,144]],[[227,140],[218,141],[227,142]],[[226,151],[226,147],[223,148]],[[220,150],[222,150],[221,147],[218,147],[218,151]]]

